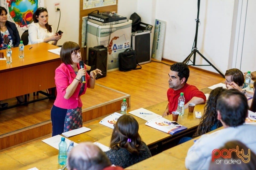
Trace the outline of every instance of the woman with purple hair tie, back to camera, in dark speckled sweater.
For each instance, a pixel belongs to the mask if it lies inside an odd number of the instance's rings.
[[[139,124],[133,116],[119,117],[111,136],[111,149],[106,152],[112,164],[126,168],[151,157],[138,131]]]

